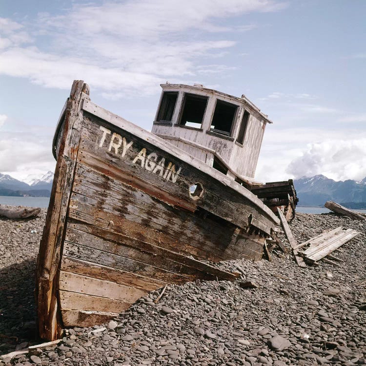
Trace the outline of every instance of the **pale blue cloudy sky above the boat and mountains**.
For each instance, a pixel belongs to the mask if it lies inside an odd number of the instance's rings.
[[[151,130],[161,87],[245,94],[273,124],[256,180],[366,176],[364,0],[0,0],[0,172],[55,169],[73,80]]]

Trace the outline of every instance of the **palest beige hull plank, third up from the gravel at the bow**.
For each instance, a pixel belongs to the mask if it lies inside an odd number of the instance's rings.
[[[59,286],[60,290],[122,300],[130,304],[146,293],[140,288],[64,271],[60,271]]]

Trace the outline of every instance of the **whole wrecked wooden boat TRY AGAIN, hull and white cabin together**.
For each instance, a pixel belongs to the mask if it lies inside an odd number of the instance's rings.
[[[234,280],[213,263],[260,260],[273,211],[294,214],[291,181],[254,181],[271,123],[258,107],[197,84],[162,88],[148,132],[73,83],[37,260],[41,338],[101,324],[166,284]]]

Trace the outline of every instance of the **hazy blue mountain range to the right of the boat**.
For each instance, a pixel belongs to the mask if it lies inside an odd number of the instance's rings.
[[[361,181],[334,181],[319,174],[294,180],[299,205],[324,206],[334,201],[348,208],[366,208],[366,177]]]

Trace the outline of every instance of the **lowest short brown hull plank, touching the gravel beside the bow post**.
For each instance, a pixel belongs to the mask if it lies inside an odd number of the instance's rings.
[[[89,327],[96,324],[103,324],[118,316],[118,313],[84,311],[61,309],[62,322],[64,326]]]

